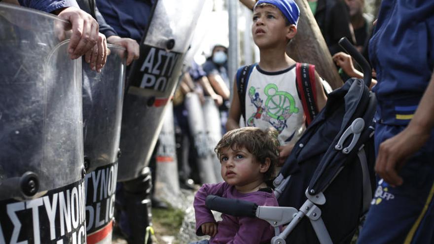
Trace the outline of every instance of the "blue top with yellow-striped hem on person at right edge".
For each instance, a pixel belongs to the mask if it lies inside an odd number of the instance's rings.
[[[377,72],[376,119],[407,125],[427,88],[434,65],[434,1],[383,0],[369,42]]]

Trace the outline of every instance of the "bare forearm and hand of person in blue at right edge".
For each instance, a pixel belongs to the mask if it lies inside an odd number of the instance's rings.
[[[429,137],[430,133],[417,125],[408,125],[395,137],[383,141],[378,150],[375,172],[390,185],[401,185],[403,181],[398,175],[399,170]]]

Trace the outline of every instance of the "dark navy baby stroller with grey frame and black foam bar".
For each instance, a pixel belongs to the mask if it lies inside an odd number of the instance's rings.
[[[280,207],[207,199],[212,210],[268,221],[276,231],[272,244],[350,243],[370,205],[376,110],[375,95],[368,89],[371,68],[346,38],[339,44],[362,66],[363,80],[349,79],[328,94],[324,109],[295,143],[274,181]],[[280,233],[279,226],[287,223]]]

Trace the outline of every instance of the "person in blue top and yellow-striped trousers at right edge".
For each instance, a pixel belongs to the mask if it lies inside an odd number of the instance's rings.
[[[379,181],[360,244],[434,243],[433,12],[434,1],[381,2],[369,43]]]

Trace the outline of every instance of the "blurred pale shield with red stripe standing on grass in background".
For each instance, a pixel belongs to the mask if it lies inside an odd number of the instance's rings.
[[[163,127],[158,136],[160,143],[156,154],[155,194],[171,203],[180,206],[180,183],[178,177],[178,160],[175,144],[175,127],[173,121],[173,104],[169,103],[163,117]]]

